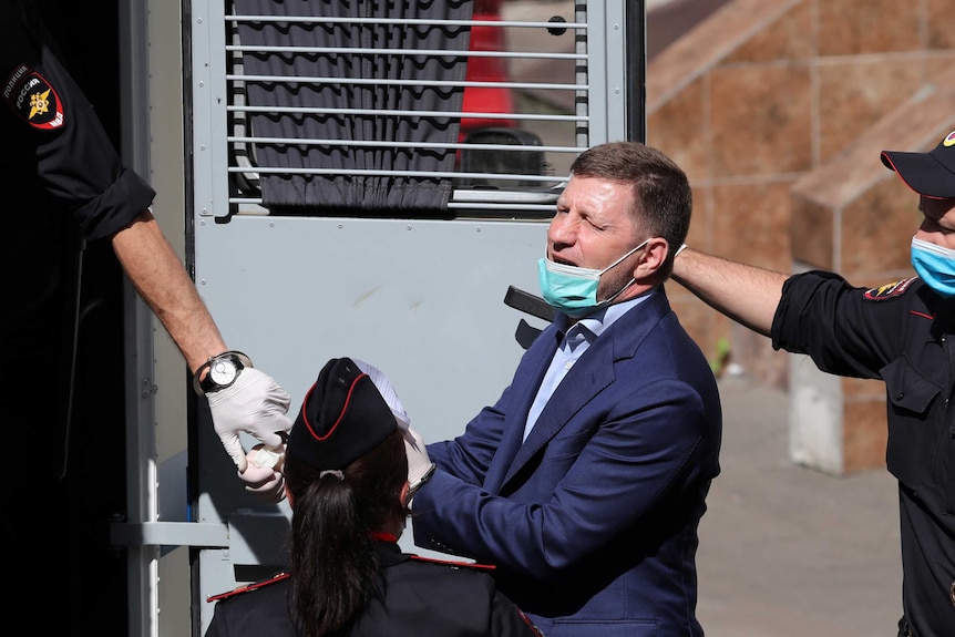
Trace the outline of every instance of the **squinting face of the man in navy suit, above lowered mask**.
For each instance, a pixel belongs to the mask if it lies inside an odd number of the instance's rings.
[[[547,257],[603,270],[639,245],[631,204],[633,187],[627,184],[572,176],[547,230]],[[597,300],[609,298],[630,281],[641,253],[637,250],[600,277]]]

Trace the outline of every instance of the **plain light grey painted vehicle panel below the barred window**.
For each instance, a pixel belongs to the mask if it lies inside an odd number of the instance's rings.
[[[546,227],[500,220],[201,219],[196,284],[226,342],[286,388],[292,412],[325,362],[349,356],[388,374],[425,441],[444,440],[461,433],[510,382],[524,351],[515,339],[521,319],[546,325],[503,301],[509,286],[540,294],[536,260]],[[286,504],[258,505],[242,491],[209,422],[199,423],[199,522],[235,520],[236,512],[287,514]],[[263,543],[261,534],[230,525],[230,555],[203,552],[202,594],[236,585],[224,558],[237,569],[259,558],[267,565],[277,552],[265,537]],[[402,537],[409,547],[410,537]],[[206,568],[205,561],[215,564]],[[212,613],[208,606],[204,614]]]

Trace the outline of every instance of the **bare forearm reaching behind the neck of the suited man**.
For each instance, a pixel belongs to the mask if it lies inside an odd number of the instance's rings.
[[[710,307],[769,336],[789,276],[687,248],[674,261],[672,278]]]

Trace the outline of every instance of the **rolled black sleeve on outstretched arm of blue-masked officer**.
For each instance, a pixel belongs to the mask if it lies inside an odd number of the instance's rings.
[[[898,304],[906,302],[907,290],[874,291],[850,286],[832,273],[791,277],[772,321],[773,349],[807,353],[825,372],[880,378],[879,371],[901,352],[905,312]]]

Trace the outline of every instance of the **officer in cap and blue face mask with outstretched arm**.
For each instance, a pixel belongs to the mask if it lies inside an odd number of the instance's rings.
[[[879,288],[824,271],[787,276],[692,249],[674,278],[707,304],[805,353],[822,371],[885,382],[886,464],[898,480],[900,637],[955,635],[955,131],[927,153],[882,162],[918,195],[918,276]],[[747,294],[740,294],[746,290]]]

